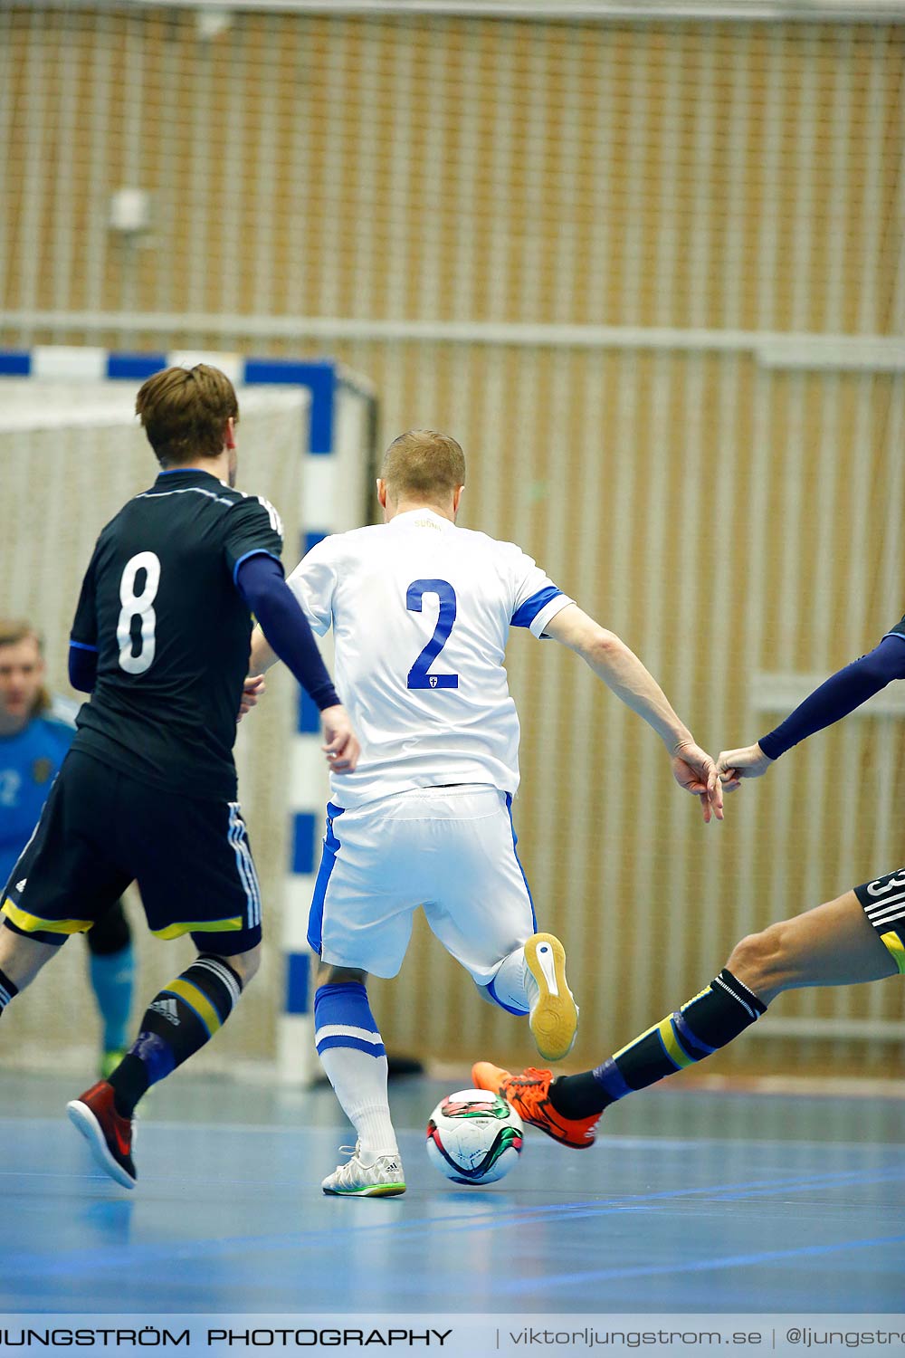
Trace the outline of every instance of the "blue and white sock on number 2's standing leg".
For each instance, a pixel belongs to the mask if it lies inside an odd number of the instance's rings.
[[[387,1097],[387,1048],[362,985],[336,982],[317,989],[315,1046],[342,1111],[355,1128],[362,1161],[398,1156]]]

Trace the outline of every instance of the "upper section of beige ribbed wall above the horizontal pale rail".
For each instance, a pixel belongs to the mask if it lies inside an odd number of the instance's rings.
[[[0,27],[8,307],[901,327],[905,29]],[[121,186],[153,196],[137,261]]]

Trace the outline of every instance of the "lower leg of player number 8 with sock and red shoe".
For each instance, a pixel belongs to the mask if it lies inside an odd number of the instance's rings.
[[[132,1141],[138,1100],[210,1042],[259,966],[261,944],[231,956],[198,953],[151,1001],[138,1036],[110,1077],[66,1105],[96,1162],[123,1188],[136,1183]]]

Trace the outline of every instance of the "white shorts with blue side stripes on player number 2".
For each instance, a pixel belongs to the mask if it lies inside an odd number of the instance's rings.
[[[327,804],[308,942],[335,967],[395,976],[423,906],[444,948],[487,986],[537,923],[516,853],[512,797],[487,785]]]

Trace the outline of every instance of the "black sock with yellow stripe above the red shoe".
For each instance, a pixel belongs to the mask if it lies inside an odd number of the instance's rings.
[[[141,1096],[199,1051],[223,1028],[242,980],[223,957],[202,953],[148,1005],[138,1038],[110,1084],[117,1112],[130,1118]]]

